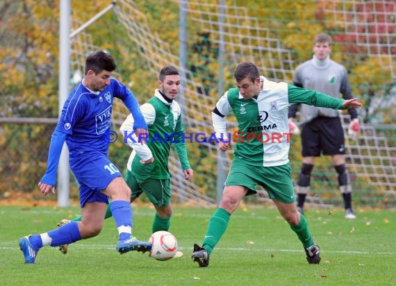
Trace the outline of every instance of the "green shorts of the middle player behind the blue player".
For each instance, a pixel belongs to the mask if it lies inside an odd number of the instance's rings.
[[[145,192],[149,201],[154,205],[158,207],[170,205],[170,179],[146,178],[145,180],[140,180],[131,171],[126,170],[125,181],[131,188],[132,200],[138,198],[142,192]]]

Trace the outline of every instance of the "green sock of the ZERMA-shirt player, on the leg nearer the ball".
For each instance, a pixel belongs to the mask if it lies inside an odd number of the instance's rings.
[[[219,242],[220,238],[225,233],[230,217],[231,214],[224,210],[224,208],[217,208],[211,219],[209,219],[208,229],[206,230],[204,242],[202,242],[202,247],[204,247],[209,254],[212,253],[217,242]]]

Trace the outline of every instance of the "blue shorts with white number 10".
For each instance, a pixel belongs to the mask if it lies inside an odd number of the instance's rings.
[[[107,156],[96,151],[84,152],[70,158],[69,164],[80,185],[81,208],[94,201],[108,203],[108,196],[101,191],[122,174]]]

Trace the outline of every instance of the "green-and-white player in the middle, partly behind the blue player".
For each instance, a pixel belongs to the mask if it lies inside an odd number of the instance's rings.
[[[140,144],[138,137],[133,133],[133,117],[129,115],[123,122],[120,131],[124,136],[124,142],[133,148],[127,163],[125,174],[126,183],[131,188],[131,201],[145,192],[151,203],[156,208],[156,214],[152,224],[152,232],[168,230],[172,216],[170,172],[168,159],[170,148],[174,142],[176,152],[179,155],[185,180],[192,180],[194,171],[188,162],[185,142],[182,140],[184,133],[181,121],[181,108],[174,101],[181,87],[181,78],[176,67],[165,66],[158,76],[159,88],[154,96],[140,106],[143,117],[149,130],[149,137],[145,138],[147,144]],[[170,135],[174,135],[170,137]],[[177,134],[177,135],[175,135]],[[110,208],[106,217],[111,217]],[[72,219],[79,221],[80,217]],[[68,223],[63,219],[58,226]],[[67,253],[67,245],[60,246],[60,251]],[[175,256],[183,253],[177,252]]]

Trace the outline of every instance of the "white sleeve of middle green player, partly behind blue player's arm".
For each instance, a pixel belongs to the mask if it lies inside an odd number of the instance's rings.
[[[149,103],[145,103],[140,106],[140,110],[142,110],[142,115],[145,117],[146,123],[153,124],[156,119],[154,107]],[[122,136],[124,136],[124,143],[131,146],[142,160],[146,161],[153,157],[147,144],[140,144],[138,142],[138,137],[133,132],[133,117],[131,114],[126,117],[119,131],[121,131]]]

